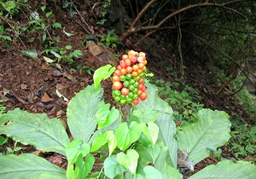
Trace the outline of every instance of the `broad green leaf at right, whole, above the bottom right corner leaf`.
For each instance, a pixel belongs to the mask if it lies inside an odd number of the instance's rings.
[[[194,165],[230,139],[231,123],[227,113],[202,109],[198,118],[195,124],[177,131],[178,148],[189,153]]]

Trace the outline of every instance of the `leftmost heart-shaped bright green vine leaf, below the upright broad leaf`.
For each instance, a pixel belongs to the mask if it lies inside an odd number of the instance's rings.
[[[90,153],[90,145],[88,143],[83,143],[82,139],[76,139],[67,145],[65,152],[67,154],[68,164],[71,165],[76,162],[79,154],[82,154],[82,156],[85,157]]]

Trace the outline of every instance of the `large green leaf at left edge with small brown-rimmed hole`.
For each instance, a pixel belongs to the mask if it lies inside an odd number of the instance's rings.
[[[4,114],[0,118],[0,124],[0,133],[10,136],[15,141],[33,145],[44,152],[65,155],[69,139],[57,118],[49,119],[44,113],[28,113],[17,108]]]

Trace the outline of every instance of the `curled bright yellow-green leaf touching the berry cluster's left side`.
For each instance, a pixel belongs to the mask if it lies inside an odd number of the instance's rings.
[[[115,70],[115,67],[113,67],[110,64],[96,69],[96,71],[93,74],[95,88],[97,89],[99,87],[102,80],[109,78],[112,75],[114,70]]]

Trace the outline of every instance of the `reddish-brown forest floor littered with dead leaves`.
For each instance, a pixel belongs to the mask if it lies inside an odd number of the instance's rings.
[[[64,118],[66,116],[67,101],[63,101],[56,90],[61,95],[67,97],[68,100],[84,89],[87,85],[93,83],[92,75],[86,70],[71,71],[78,65],[87,66],[88,69],[98,68],[99,66],[106,65],[106,63],[99,61],[86,45],[82,45],[80,42],[84,42],[86,33],[77,23],[68,19],[66,14],[59,12],[55,14],[55,20],[65,26],[66,32],[71,32],[74,35],[67,37],[67,35],[57,29],[54,33],[60,37],[60,42],[56,43],[58,47],[65,47],[72,45],[73,49],[81,49],[84,56],[76,59],[72,65],[61,65],[61,68],[51,66],[47,61],[44,61],[43,55],[40,53],[44,50],[43,45],[40,43],[41,39],[38,37],[28,43],[27,37],[21,37],[15,39],[13,43],[10,43],[10,48],[4,48],[0,46],[0,100],[3,100],[3,104],[8,110],[20,107],[22,110],[26,110],[30,113],[47,113],[49,118],[55,118],[56,116]],[[100,28],[100,27],[99,27]],[[54,35],[54,34],[53,34]],[[33,35],[32,35],[33,36]],[[21,41],[25,44],[27,49],[36,49],[38,51],[38,58],[34,60],[21,55],[20,50],[25,49]],[[156,41],[159,41],[156,39]],[[139,49],[137,47],[131,47]],[[109,49],[111,50],[111,49]],[[113,52],[114,53],[114,52]],[[119,53],[123,53],[119,51]],[[172,56],[160,45],[157,49],[152,51],[146,51],[148,54],[148,69],[154,73],[155,79],[164,79],[165,81],[172,81],[174,79],[166,72],[166,69],[160,64],[161,59],[170,59],[170,66],[173,65]],[[189,66],[188,66],[189,71]],[[254,122],[248,117],[245,109],[241,107],[236,99],[236,95],[229,96],[228,90],[223,90],[216,95],[219,90],[216,77],[214,74],[199,69],[194,71],[185,72],[185,83],[191,85],[201,95],[201,103],[207,108],[224,110],[230,114],[240,115],[242,117],[241,123],[253,124]],[[203,77],[203,78],[201,78]],[[111,81],[106,80],[103,82],[105,89],[105,98],[108,102],[113,104],[111,99]],[[228,96],[228,97],[227,97]],[[9,140],[9,143],[5,144],[6,147],[13,147],[15,141]],[[20,145],[22,146],[22,145]],[[222,156],[228,159],[235,159],[232,153],[229,153],[229,146],[222,147]],[[2,148],[1,150],[4,150]],[[1,152],[1,151],[0,151]],[[16,153],[34,153],[36,149],[31,146],[22,146],[22,149]],[[67,167],[67,160],[57,153],[40,153],[38,155],[48,159],[55,165],[59,165],[62,168]],[[201,161],[198,165],[195,165],[195,171],[201,170],[209,164],[218,163],[218,159],[209,157]]]

